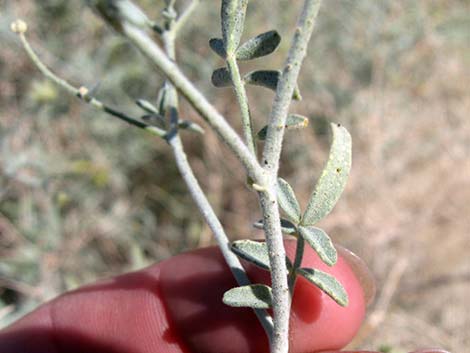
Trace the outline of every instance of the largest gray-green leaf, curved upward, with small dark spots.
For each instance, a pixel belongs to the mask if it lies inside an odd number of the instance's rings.
[[[346,186],[351,170],[351,135],[339,124],[331,124],[333,142],[328,162],[310,196],[302,225],[317,223],[331,212]]]

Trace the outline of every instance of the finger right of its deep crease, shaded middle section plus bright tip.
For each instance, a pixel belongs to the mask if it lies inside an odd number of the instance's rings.
[[[294,241],[286,241],[291,257],[294,248]],[[187,261],[182,261],[182,257]],[[244,265],[252,282],[269,284],[267,271]],[[364,318],[364,294],[359,281],[342,258],[328,267],[307,247],[303,265],[334,275],[346,287],[350,304],[342,308],[305,279],[299,279],[292,305],[290,352],[340,349],[354,337]],[[168,316],[194,352],[269,351],[252,310],[222,303],[223,293],[236,283],[219,252],[201,249],[170,259],[161,266],[161,279]]]

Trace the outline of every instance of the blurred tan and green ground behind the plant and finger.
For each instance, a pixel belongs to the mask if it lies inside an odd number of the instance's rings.
[[[138,2],[161,19],[162,1]],[[155,5],[155,3],[157,3]],[[177,1],[184,4],[184,1]],[[275,5],[274,5],[275,4]],[[282,65],[301,1],[252,1],[245,38],[277,29],[279,50],[243,71]],[[182,35],[181,67],[239,127],[220,59],[219,2]],[[400,353],[470,345],[470,1],[324,1],[291,111],[281,175],[305,206],[328,154],[329,121],[353,136],[347,190],[321,226],[370,266],[378,292],[352,348]],[[10,32],[44,62],[129,113],[162,77],[80,1],[0,0],[0,326],[97,278],[213,243],[168,146],[83,105],[41,76]],[[249,88],[257,128],[273,94]],[[183,115],[205,124],[183,103]],[[206,129],[208,130],[208,129]],[[260,237],[256,195],[210,131],[185,133],[190,161],[232,239]]]

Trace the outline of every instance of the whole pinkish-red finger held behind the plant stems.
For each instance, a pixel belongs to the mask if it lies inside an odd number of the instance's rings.
[[[288,253],[292,254],[294,245],[286,242]],[[362,321],[365,304],[361,286],[341,256],[330,268],[306,248],[303,265],[335,276],[345,286],[350,304],[339,307],[300,278],[292,307],[291,352],[340,348]],[[247,272],[253,282],[269,282],[267,271],[247,265]],[[30,350],[0,351],[268,352],[266,335],[253,311],[222,302],[223,293],[236,285],[217,248],[188,252],[61,296],[0,334],[0,348],[8,348],[6,338],[10,347],[20,347],[18,342],[29,337],[36,340],[31,342],[44,342]]]

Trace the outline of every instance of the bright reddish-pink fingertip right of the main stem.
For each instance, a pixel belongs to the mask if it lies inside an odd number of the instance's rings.
[[[295,256],[295,240],[285,242],[289,258]],[[339,254],[334,266],[323,263],[316,252],[306,246],[302,267],[319,269],[334,276],[348,293],[349,304],[339,306],[333,299],[298,277],[292,301],[290,321],[291,352],[337,350],[346,346],[356,335],[365,316],[365,297],[361,283],[349,263]],[[266,273],[254,273],[255,281],[266,281]]]

